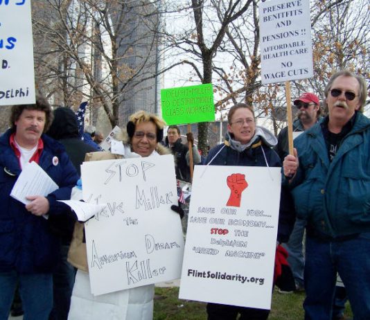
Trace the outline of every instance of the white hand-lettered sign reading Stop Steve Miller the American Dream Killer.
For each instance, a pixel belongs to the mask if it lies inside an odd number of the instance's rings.
[[[107,206],[85,224],[92,294],[180,277],[184,238],[172,155],[84,162],[83,198]]]

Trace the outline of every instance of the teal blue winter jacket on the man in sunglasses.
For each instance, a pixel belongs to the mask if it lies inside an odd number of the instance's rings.
[[[370,120],[356,113],[332,162],[320,123],[294,140],[299,170],[290,186],[297,216],[323,238],[369,232]]]

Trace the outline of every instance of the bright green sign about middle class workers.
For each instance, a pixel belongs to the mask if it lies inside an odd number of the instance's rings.
[[[211,83],[161,89],[161,105],[168,125],[215,121]]]

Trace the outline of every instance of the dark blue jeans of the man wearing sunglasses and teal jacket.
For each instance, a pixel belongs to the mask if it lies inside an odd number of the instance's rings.
[[[331,319],[337,272],[346,287],[353,319],[369,319],[369,253],[370,238],[365,233],[355,239],[342,241],[306,237],[306,299],[303,303],[306,320]]]

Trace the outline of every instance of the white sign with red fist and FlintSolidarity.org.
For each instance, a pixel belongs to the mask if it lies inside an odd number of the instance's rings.
[[[204,168],[194,170],[179,298],[270,309],[281,170]]]

